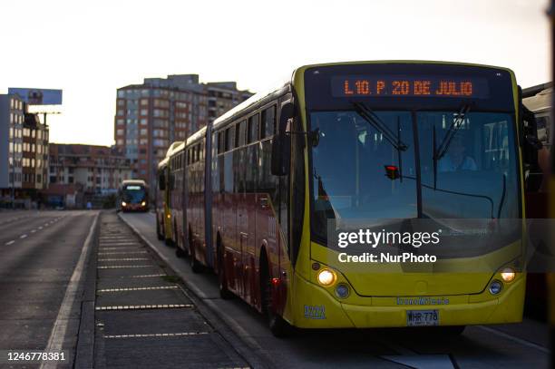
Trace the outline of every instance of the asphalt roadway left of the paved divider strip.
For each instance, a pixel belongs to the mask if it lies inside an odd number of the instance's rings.
[[[73,352],[96,211],[0,213],[0,350]],[[90,243],[90,242],[89,242]],[[68,292],[69,291],[69,292]],[[71,367],[73,357],[61,367]],[[34,367],[38,365],[26,365]]]

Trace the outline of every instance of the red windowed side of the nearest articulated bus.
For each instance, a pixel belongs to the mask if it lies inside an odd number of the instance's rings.
[[[185,178],[178,181],[181,174],[175,170],[171,195],[178,245],[202,266],[223,270],[229,291],[259,311],[264,270],[272,278],[272,305],[278,314],[285,305],[287,284],[282,282],[289,267],[287,226],[280,227],[278,219],[281,209],[287,224],[289,195],[287,178],[270,174],[270,156],[277,106],[290,96],[284,86],[241,116],[231,111],[193,134],[184,152],[174,155],[184,160]],[[186,209],[182,228],[180,201]],[[225,267],[219,266],[220,259]]]

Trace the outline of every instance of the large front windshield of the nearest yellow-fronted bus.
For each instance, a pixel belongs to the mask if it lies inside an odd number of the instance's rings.
[[[519,218],[510,113],[373,113],[390,140],[355,109],[310,113],[320,135],[311,170],[317,238],[326,239],[330,218]],[[437,158],[453,121],[453,138]]]

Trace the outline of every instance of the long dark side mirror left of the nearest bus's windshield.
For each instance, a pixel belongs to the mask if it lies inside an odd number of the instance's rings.
[[[287,125],[294,117],[293,102],[283,102],[279,110],[277,132],[272,141],[271,171],[275,176],[285,176],[289,172],[291,136],[287,132]]]

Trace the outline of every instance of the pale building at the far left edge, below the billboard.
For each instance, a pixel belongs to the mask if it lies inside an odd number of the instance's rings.
[[[24,102],[17,94],[0,94],[0,201],[22,188]]]

